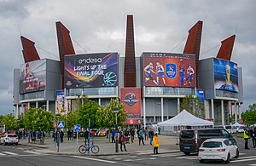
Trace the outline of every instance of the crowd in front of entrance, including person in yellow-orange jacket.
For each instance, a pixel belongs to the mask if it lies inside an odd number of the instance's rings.
[[[111,142],[115,142],[115,135],[116,131],[115,129],[112,129],[111,136],[112,140]],[[123,131],[119,129],[119,144],[120,144],[120,150],[123,152],[123,148],[126,152],[126,146],[125,144],[129,143],[129,138],[131,138],[131,142],[134,142],[135,135],[137,134],[138,138],[138,144],[139,146],[143,144],[145,146],[144,140],[148,140],[149,138],[149,145],[154,146],[154,154],[158,154],[158,147],[159,147],[159,137],[158,134],[154,134],[153,129],[148,129],[147,127],[145,129],[124,129]]]

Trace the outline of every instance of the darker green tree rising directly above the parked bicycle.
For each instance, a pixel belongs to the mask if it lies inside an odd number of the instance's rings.
[[[79,107],[77,122],[81,124],[82,127],[89,127],[89,119],[90,119],[90,128],[96,129],[96,112],[99,108],[99,105],[96,104],[93,100],[86,100],[86,103],[83,106]]]

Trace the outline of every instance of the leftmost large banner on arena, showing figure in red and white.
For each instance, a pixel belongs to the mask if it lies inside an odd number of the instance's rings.
[[[20,66],[20,94],[45,89],[46,60],[35,60]]]

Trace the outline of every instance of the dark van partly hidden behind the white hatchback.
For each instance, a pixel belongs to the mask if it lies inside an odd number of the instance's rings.
[[[186,155],[198,152],[203,141],[210,138],[227,138],[236,145],[236,140],[226,129],[185,129],[179,135],[180,151]]]

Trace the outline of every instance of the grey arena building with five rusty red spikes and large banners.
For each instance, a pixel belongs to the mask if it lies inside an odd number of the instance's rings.
[[[230,61],[236,36],[222,41],[217,57],[200,60],[198,21],[189,30],[183,53],[135,54],[133,16],[127,15],[125,54],[75,54],[70,32],[56,22],[60,61],[40,60],[35,43],[20,37],[24,64],[14,72],[16,116],[29,107],[42,107],[56,115],[77,109],[86,95],[106,106],[119,98],[127,112],[126,124],[163,122],[179,112],[186,94],[200,96],[206,115],[228,124],[235,112],[241,120],[242,70]]]

